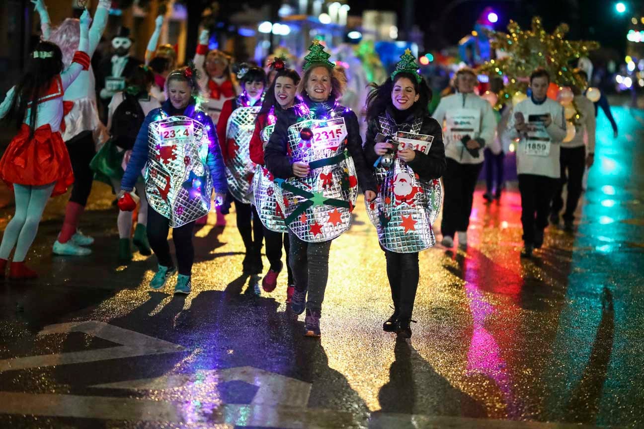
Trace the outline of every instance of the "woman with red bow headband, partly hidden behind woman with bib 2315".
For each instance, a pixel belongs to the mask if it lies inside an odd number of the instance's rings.
[[[261,287],[267,292],[272,292],[277,286],[278,275],[284,265],[281,262],[282,246],[287,258],[289,255],[289,236],[287,235],[289,230],[284,223],[284,215],[277,203],[273,183],[274,178],[265,167],[264,146],[268,143],[270,133],[273,131],[279,117],[287,116],[289,122],[296,118],[294,105],[299,102],[299,99],[296,98],[299,75],[295,70],[286,68],[282,57],[275,57],[269,63],[269,66],[270,72],[274,72],[272,73],[273,80],[266,91],[260,113],[258,113],[255,120],[255,131],[252,134],[250,151],[251,160],[257,164],[252,183],[254,206],[264,227],[266,257],[270,263],[269,272],[261,280]],[[287,271],[289,283],[286,302],[290,303],[295,286],[288,263]]]

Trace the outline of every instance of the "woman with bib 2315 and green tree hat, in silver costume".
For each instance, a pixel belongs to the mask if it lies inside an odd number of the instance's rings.
[[[355,113],[337,104],[344,82],[315,40],[298,85],[296,116],[282,115],[264,151],[267,169],[281,179],[278,203],[289,228],[289,264],[295,279],[291,309],[306,310],[305,335],[320,336],[331,242],[348,230],[357,198],[375,198]],[[308,296],[307,296],[308,295]]]

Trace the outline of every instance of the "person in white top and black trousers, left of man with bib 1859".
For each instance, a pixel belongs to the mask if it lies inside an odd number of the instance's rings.
[[[477,83],[473,69],[457,71],[454,79],[457,93],[441,98],[432,115],[441,125],[445,122],[447,170],[443,175],[445,202],[440,244],[447,248],[454,246],[455,233],[459,247],[468,248],[469,215],[485,159],[483,149],[492,143],[497,131],[492,106],[474,93]]]

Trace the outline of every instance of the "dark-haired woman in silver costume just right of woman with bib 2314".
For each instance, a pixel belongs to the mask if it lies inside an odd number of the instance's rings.
[[[243,272],[260,274],[263,226],[252,203],[252,178],[256,165],[250,159],[249,143],[255,129],[266,86],[266,73],[259,67],[240,64],[237,78],[242,84],[238,98],[226,100],[217,123],[217,135],[226,165],[228,191],[235,203],[237,229],[246,250]]]

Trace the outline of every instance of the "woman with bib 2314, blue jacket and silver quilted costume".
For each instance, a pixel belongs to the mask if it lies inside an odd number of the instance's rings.
[[[213,121],[196,100],[197,75],[194,66],[175,69],[168,75],[168,98],[147,114],[118,194],[121,210],[135,208],[136,197],[131,190],[145,166],[147,239],[158,259],[150,287],[162,289],[178,270],[175,293],[183,294],[191,291],[194,222],[210,211],[213,190],[218,202],[226,193]],[[167,242],[169,228],[173,228],[177,268]]]

